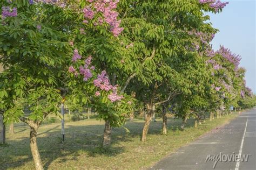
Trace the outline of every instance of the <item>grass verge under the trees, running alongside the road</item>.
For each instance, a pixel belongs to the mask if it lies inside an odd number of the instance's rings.
[[[179,129],[180,119],[170,118],[167,135],[160,134],[161,119],[157,119],[150,124],[145,143],[139,140],[144,121],[135,119],[125,125],[130,133],[123,128],[113,129],[112,146],[107,150],[99,147],[104,122],[96,119],[66,123],[64,144],[59,122],[43,124],[37,141],[45,169],[145,169],[235,117],[237,114],[215,118],[198,128],[194,128],[194,120],[189,119],[184,131]],[[15,132],[12,135],[7,132],[8,145],[0,147],[0,169],[35,169],[29,146],[29,127],[16,124]]]

